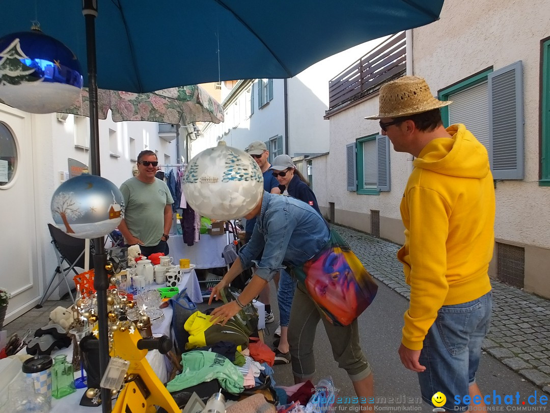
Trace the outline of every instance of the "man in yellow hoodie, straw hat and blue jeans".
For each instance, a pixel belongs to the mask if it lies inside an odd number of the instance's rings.
[[[393,148],[415,157],[400,205],[397,257],[411,293],[399,356],[427,403],[441,392],[444,409],[460,411],[465,395],[484,406],[475,373],[491,318],[495,200],[485,146],[463,124],[443,127],[440,108],[450,103],[404,76],[382,86],[379,113],[366,119],[380,119]]]

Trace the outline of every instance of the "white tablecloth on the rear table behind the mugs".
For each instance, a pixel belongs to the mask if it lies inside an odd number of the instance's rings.
[[[229,244],[229,232],[224,235],[201,234],[199,242],[189,247],[183,242],[183,235],[172,235],[168,238],[170,256],[174,258],[174,264],[179,265],[180,258],[189,258],[195,268],[219,268],[225,267],[226,261],[222,257],[223,248]]]

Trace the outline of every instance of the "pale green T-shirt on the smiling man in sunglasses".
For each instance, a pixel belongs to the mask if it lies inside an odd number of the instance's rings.
[[[158,244],[164,233],[164,207],[174,203],[168,186],[155,178],[153,183],[130,178],[120,186],[124,197],[124,221],[145,247]]]

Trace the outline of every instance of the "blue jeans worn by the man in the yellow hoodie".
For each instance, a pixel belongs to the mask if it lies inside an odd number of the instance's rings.
[[[418,373],[422,399],[432,407],[432,396],[443,393],[447,411],[464,411],[467,406],[454,404],[454,396],[469,394],[475,383],[481,357],[481,342],[491,323],[491,292],[477,300],[443,306],[428,330],[420,353],[426,371]]]

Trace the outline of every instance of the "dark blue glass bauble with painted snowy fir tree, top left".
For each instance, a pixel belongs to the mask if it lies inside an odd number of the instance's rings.
[[[79,98],[82,86],[74,53],[40,26],[0,39],[0,102],[25,112],[59,112]]]

